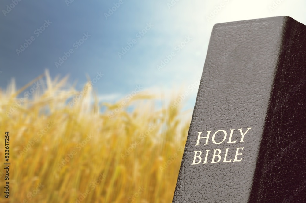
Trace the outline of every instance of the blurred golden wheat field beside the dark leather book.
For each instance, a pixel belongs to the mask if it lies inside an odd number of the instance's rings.
[[[46,85],[32,97],[17,97],[41,78]],[[90,83],[81,95],[67,79],[46,70],[20,90],[13,82],[1,90],[0,157],[10,165],[9,180],[8,165],[0,169],[0,202],[171,202],[191,112],[157,108],[147,93],[100,104]]]

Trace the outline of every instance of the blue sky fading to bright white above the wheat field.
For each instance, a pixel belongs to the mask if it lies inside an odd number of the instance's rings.
[[[13,2],[17,5],[8,9]],[[81,89],[86,74],[95,78],[102,73],[94,86],[100,101],[115,102],[141,86],[152,94],[164,93],[166,99],[187,91],[186,108],[192,109],[215,23],[291,16],[306,24],[305,4],[297,0],[1,1],[0,87],[6,88],[14,77],[17,89],[21,88],[47,68],[52,78],[69,74],[69,83],[77,81]],[[16,51],[27,41],[31,44],[24,51]],[[122,48],[129,50],[125,53]],[[69,57],[57,66],[65,52]]]

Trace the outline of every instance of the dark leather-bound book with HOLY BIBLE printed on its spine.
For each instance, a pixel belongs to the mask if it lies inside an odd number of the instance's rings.
[[[173,203],[306,202],[306,26],[215,24]]]

